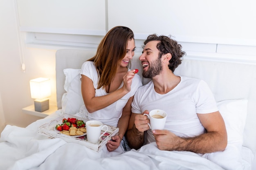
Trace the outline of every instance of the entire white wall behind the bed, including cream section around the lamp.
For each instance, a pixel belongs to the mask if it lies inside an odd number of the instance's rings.
[[[25,127],[40,119],[21,111],[33,104],[29,80],[50,78],[50,104],[55,105],[56,50],[95,49],[106,31],[116,25],[134,31],[139,53],[148,34],[171,34],[190,56],[256,64],[255,3],[254,0],[17,0],[17,7],[16,0],[1,0],[1,122]],[[21,69],[23,62],[25,72]]]

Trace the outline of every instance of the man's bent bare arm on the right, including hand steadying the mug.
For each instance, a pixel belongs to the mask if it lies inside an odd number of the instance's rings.
[[[187,150],[196,153],[210,153],[225,150],[227,131],[220,112],[198,114],[207,133],[196,137],[177,137],[168,130],[153,130],[160,150]]]

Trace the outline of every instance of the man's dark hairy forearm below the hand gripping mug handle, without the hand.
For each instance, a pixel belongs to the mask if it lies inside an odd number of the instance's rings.
[[[144,143],[144,132],[139,132],[135,125],[132,129],[127,130],[126,139],[128,141],[128,145],[132,149],[139,149]]]

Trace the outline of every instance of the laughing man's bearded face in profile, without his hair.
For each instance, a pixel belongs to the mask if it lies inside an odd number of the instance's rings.
[[[162,60],[161,57],[159,57],[157,43],[159,43],[159,41],[148,42],[139,57],[143,66],[142,76],[145,78],[153,78],[162,71]]]

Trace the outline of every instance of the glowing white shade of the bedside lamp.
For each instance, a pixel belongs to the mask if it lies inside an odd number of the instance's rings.
[[[36,78],[29,81],[32,99],[44,99],[51,95],[50,79]]]

